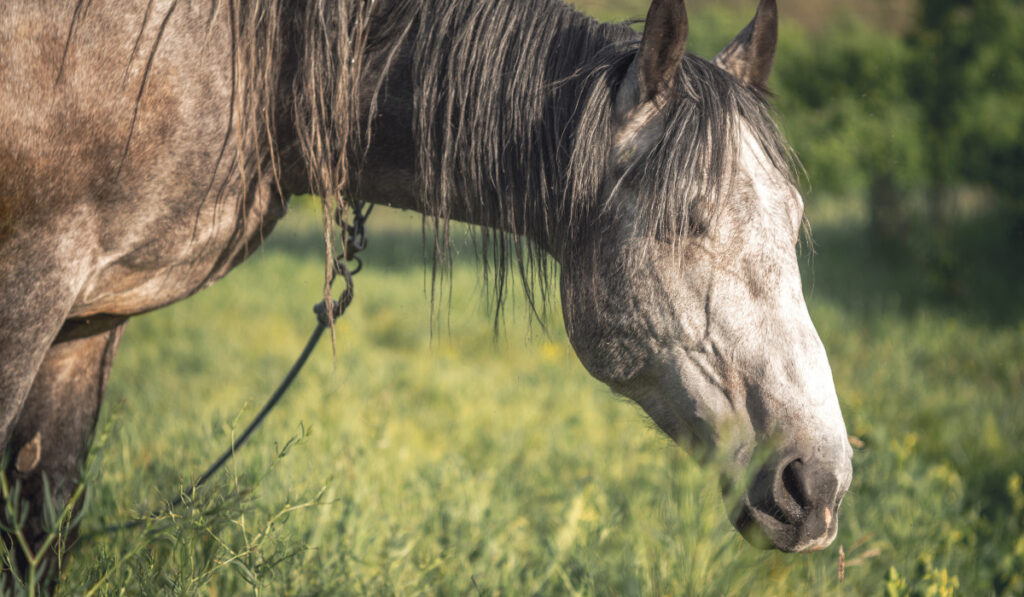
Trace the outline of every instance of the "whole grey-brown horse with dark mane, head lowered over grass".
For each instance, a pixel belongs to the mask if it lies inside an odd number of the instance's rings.
[[[509,275],[531,305],[557,281],[583,366],[722,456],[743,537],[828,546],[852,451],[798,267],[777,28],[760,0],[706,60],[683,0],[642,35],[561,0],[5,2],[0,441],[28,546],[78,486],[125,322],[306,193],[328,257],[352,201],[423,213],[441,262],[475,224],[498,308]]]

